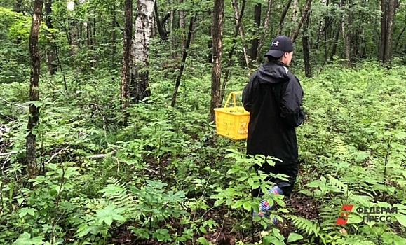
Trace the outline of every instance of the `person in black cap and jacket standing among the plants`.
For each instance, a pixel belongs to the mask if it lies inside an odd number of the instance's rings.
[[[250,112],[247,154],[278,158],[275,165],[256,166],[266,174],[286,174],[286,180],[267,179],[275,183],[269,192],[289,196],[297,178],[299,165],[295,127],[302,124],[303,90],[299,79],[289,71],[293,43],[286,36],[273,39],[264,57],[268,62],[252,74],[243,90],[243,106]],[[259,197],[259,188],[252,190]],[[259,205],[259,216],[272,209],[265,200]]]

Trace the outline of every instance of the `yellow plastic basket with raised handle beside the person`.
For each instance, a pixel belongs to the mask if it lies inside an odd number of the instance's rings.
[[[216,132],[229,139],[246,139],[250,113],[243,106],[237,106],[236,95],[241,95],[241,92],[231,92],[224,108],[215,109]],[[231,97],[234,106],[227,107]]]

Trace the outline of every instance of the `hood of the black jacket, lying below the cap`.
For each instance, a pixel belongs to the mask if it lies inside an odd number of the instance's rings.
[[[287,66],[282,62],[266,62],[258,69],[259,83],[280,83],[289,80]]]

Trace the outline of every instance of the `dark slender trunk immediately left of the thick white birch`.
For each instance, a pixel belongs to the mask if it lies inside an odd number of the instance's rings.
[[[121,70],[121,103],[126,109],[130,101],[131,44],[133,36],[133,0],[124,1],[123,64]]]

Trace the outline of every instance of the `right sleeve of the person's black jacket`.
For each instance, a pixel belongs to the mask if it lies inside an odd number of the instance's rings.
[[[297,127],[304,121],[305,113],[301,109],[302,97],[303,90],[299,80],[295,77],[291,78],[283,90],[280,101],[280,117],[291,127]]]

